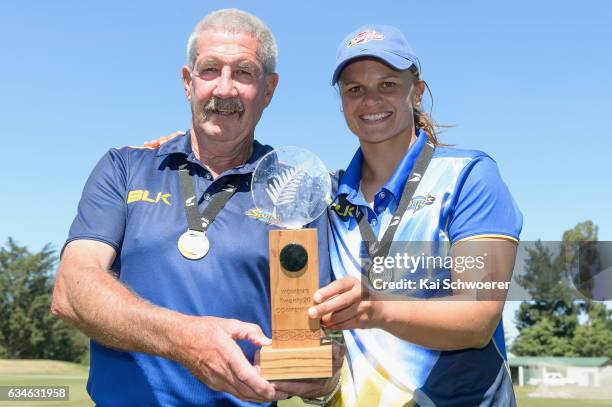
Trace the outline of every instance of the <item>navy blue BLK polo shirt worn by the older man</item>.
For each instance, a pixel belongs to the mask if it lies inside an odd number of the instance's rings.
[[[121,282],[147,301],[188,315],[235,318],[261,326],[271,337],[268,231],[250,193],[251,175],[270,146],[254,141],[244,165],[213,179],[195,158],[189,132],[159,149],[108,151],[90,175],[68,242],[92,239],[117,251],[113,264]],[[242,174],[236,194],[207,231],[209,253],[184,258],[177,248],[187,230],[174,155],[185,156],[194,174],[202,211],[224,184]],[[327,217],[318,228],[320,283],[329,282]],[[249,361],[256,347],[238,345]],[[87,390],[98,406],[253,405],[216,392],[182,365],[158,356],[123,352],[91,341]]]

